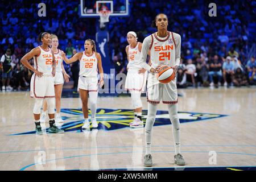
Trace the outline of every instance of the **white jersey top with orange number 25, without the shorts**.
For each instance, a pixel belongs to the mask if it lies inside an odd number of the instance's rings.
[[[42,72],[43,75],[52,75],[52,52],[48,48],[48,51],[41,49],[41,53],[38,57],[34,56],[34,68]]]

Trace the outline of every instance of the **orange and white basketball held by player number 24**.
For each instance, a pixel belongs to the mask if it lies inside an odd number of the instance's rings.
[[[174,80],[175,78],[174,69],[166,64],[160,65],[156,69],[156,78],[158,78],[158,81],[162,84],[168,84],[168,82]]]

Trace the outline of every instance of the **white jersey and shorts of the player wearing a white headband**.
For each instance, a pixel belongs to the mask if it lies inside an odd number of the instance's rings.
[[[142,69],[140,64],[141,52],[139,43],[135,48],[128,48],[129,63],[127,64],[127,76],[125,80],[125,89],[131,91],[144,92],[146,90],[147,72],[138,73]]]

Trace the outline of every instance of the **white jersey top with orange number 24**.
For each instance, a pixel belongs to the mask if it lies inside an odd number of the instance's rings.
[[[175,42],[168,32],[166,38],[159,38],[156,32],[151,35],[152,43],[150,48],[150,59],[152,68],[158,67],[160,64],[167,64],[171,67],[175,65]]]

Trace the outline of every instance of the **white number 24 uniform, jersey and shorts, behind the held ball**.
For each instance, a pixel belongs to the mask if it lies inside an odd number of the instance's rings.
[[[180,35],[168,32],[165,38],[160,38],[156,32],[144,40],[144,48],[148,45],[150,49],[151,67],[156,68],[160,64],[167,64],[171,67],[179,65],[180,59]],[[144,44],[143,42],[143,44]],[[149,44],[148,44],[149,43]],[[143,48],[143,47],[142,47]],[[148,49],[147,49],[148,50]],[[145,54],[145,53],[144,53]],[[143,60],[143,58],[142,58]],[[146,64],[142,64],[146,65]],[[145,69],[151,67],[144,66]],[[162,84],[158,81],[154,73],[149,73],[147,82],[147,101],[152,104],[159,104],[160,100],[163,104],[177,103],[177,86],[176,78],[168,84]]]

